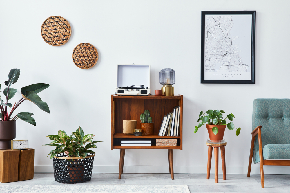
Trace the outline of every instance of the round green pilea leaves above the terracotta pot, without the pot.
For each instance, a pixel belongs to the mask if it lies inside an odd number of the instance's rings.
[[[201,111],[199,114],[199,118],[197,120],[197,123],[201,121],[198,126],[194,127],[194,133],[197,132],[198,128],[200,128],[202,125],[226,125],[229,130],[233,130],[235,128],[235,125],[233,122],[229,122],[228,124],[226,123],[226,119],[228,118],[230,121],[235,119],[235,116],[233,113],[227,115],[227,117],[224,119],[222,116],[225,112],[223,110],[208,110],[206,111],[207,115],[204,115],[203,112]],[[238,136],[241,132],[241,128],[236,128],[236,135]],[[213,127],[213,134],[218,133],[218,127]]]

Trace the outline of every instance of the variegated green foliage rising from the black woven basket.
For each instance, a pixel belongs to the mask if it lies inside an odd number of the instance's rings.
[[[73,135],[75,137],[73,137]],[[44,146],[55,146],[55,150],[51,150],[50,159],[53,158],[58,153],[65,153],[68,157],[83,157],[85,158],[88,153],[95,153],[90,148],[97,148],[95,143],[102,141],[93,141],[93,134],[84,135],[84,131],[81,127],[77,128],[76,131],[72,132],[70,136],[66,132],[59,130],[57,135],[48,135],[49,139],[53,140],[49,144]],[[86,144],[88,142],[88,144]],[[60,145],[58,144],[60,143]],[[86,145],[85,145],[86,144]]]

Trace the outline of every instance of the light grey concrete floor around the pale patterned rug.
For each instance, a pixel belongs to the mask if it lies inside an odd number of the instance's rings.
[[[174,174],[171,180],[170,174],[122,174],[118,179],[115,173],[93,173],[86,185],[93,184],[140,184],[140,185],[182,185],[186,184],[193,192],[290,192],[290,175],[264,175],[265,188],[261,188],[260,175],[251,174],[226,174],[226,180],[219,174],[219,183],[215,183],[215,174],[206,179],[206,174]],[[34,179],[0,185],[59,185],[54,180],[53,173],[35,173]]]

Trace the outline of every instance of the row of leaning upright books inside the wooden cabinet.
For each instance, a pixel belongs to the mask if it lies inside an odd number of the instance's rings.
[[[159,136],[178,136],[180,106],[173,107],[173,112],[163,116]]]

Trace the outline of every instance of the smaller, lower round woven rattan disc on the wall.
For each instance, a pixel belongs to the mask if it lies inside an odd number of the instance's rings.
[[[98,59],[97,49],[89,43],[80,43],[73,50],[73,62],[79,68],[89,69],[97,63]]]

